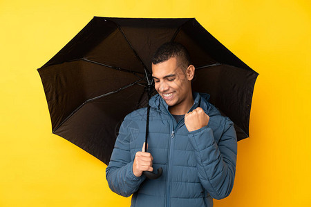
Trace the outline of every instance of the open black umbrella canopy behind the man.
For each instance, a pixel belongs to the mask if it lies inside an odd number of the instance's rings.
[[[122,120],[147,106],[151,57],[167,41],[189,50],[193,90],[211,95],[210,102],[234,121],[238,140],[248,137],[258,73],[194,18],[94,17],[38,69],[53,133],[109,164]]]

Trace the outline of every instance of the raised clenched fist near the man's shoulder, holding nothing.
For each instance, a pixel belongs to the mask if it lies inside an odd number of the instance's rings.
[[[185,114],[185,125],[189,132],[198,130],[203,126],[207,126],[207,124],[209,124],[209,115],[200,107]]]

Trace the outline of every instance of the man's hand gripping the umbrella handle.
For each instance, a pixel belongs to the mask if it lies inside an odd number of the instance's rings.
[[[148,146],[148,145],[147,145]],[[133,173],[136,177],[142,176],[144,171],[153,171],[152,168],[153,157],[149,152],[144,152],[144,145],[142,146],[142,152],[136,152]]]

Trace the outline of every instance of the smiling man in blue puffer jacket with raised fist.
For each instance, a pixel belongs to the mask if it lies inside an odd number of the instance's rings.
[[[195,68],[179,43],[165,43],[153,56],[158,95],[149,105],[148,151],[144,152],[147,109],[127,115],[106,168],[113,192],[131,206],[213,206],[227,197],[236,170],[236,132],[232,121],[191,91]],[[184,117],[185,116],[185,117]],[[158,179],[142,172],[163,168]]]

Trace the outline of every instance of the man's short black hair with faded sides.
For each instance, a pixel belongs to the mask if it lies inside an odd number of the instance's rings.
[[[162,63],[167,61],[171,57],[176,57],[178,64],[182,66],[183,69],[187,69],[191,65],[191,60],[188,50],[181,43],[176,41],[169,41],[162,44],[158,50],[154,53],[151,61],[153,64]]]

